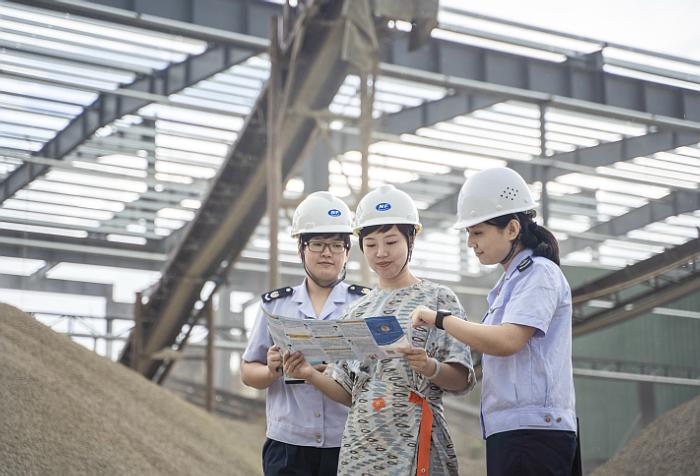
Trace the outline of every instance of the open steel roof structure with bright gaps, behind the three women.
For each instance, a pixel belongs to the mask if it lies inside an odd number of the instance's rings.
[[[0,287],[96,296],[97,314],[130,318],[133,298],[113,292],[152,286],[153,322],[180,315],[152,329],[151,351],[221,282],[233,307],[255,302],[269,266],[260,112],[281,3],[0,1]],[[525,177],[567,265],[619,269],[697,236],[700,62],[459,5],[442,2],[415,51],[411,23],[375,17],[369,187],[394,183],[419,204],[420,276],[465,299],[488,289],[491,269],[450,225],[465,177],[493,166]],[[285,279],[303,273],[295,204],[329,189],[353,206],[361,188],[361,80],[331,62],[337,45],[319,38],[341,33],[329,24],[307,32],[285,123],[297,131],[282,151]],[[221,232],[227,214],[239,218]]]

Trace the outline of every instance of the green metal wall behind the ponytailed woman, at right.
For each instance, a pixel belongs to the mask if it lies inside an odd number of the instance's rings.
[[[604,271],[568,268],[572,287],[590,281]],[[644,290],[638,286],[634,292]],[[700,293],[664,307],[700,310]],[[574,358],[668,364],[700,368],[700,319],[645,314],[574,339]],[[698,375],[672,374],[698,378]],[[588,468],[604,462],[642,428],[641,384],[577,377],[577,412],[581,419],[583,458]],[[653,384],[653,416],[700,394],[698,387]]]

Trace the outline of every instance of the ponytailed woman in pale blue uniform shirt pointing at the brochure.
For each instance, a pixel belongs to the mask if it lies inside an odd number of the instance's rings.
[[[525,181],[507,168],[469,178],[455,228],[485,265],[504,273],[482,324],[420,306],[414,327],[436,326],[482,352],[481,421],[487,470],[496,475],[569,475],[576,453],[571,366],[571,289],[554,236],[533,218]]]

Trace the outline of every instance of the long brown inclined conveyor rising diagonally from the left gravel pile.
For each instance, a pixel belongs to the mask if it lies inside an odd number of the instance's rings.
[[[341,5],[337,5],[338,7]],[[297,61],[305,67],[298,71],[289,104],[325,108],[345,78],[347,63],[340,60],[343,24],[335,20],[338,9],[324,11],[324,20],[304,31]],[[248,241],[265,207],[264,167],[260,157],[266,146],[266,93],[241,131],[235,148],[219,171],[209,196],[200,209],[163,279],[150,296],[145,310],[144,352],[156,352],[174,342],[191,313],[204,282],[227,269]],[[315,121],[291,116],[280,134],[279,150],[283,175],[287,176],[307,146]],[[222,264],[223,263],[223,264]],[[121,361],[128,364],[128,346]],[[142,369],[152,378],[159,363]]]

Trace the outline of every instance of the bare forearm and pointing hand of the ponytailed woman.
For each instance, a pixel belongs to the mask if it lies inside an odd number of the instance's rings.
[[[418,306],[411,313],[413,327],[433,327],[436,315],[436,311],[425,306]],[[463,321],[454,316],[446,316],[442,325],[451,336],[469,345],[472,349],[499,357],[519,352],[536,330],[534,327],[520,324],[477,324]]]

